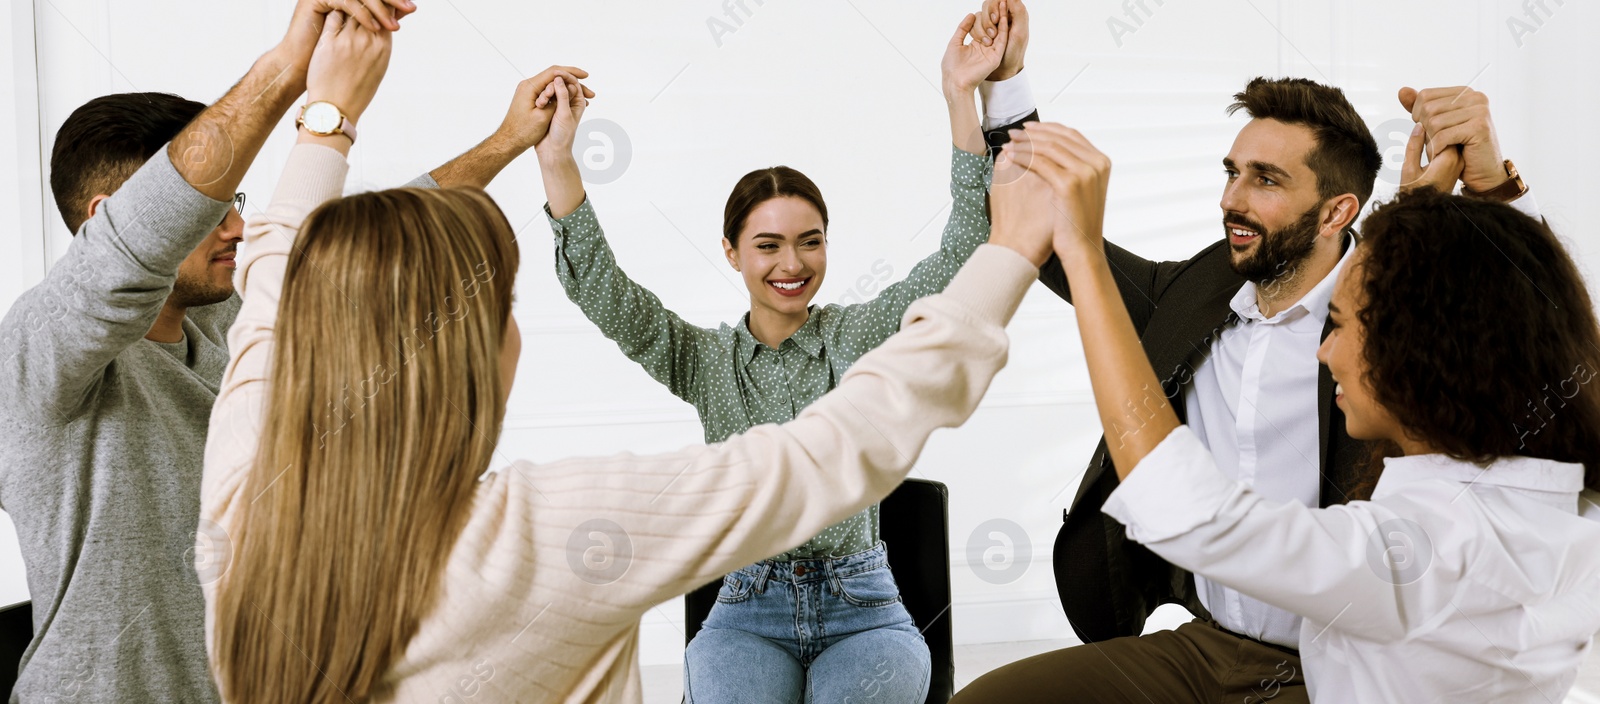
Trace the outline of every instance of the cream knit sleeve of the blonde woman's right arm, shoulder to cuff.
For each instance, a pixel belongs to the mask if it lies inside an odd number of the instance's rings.
[[[934,429],[973,413],[1005,365],[1003,326],[1034,272],[1010,250],[979,250],[947,293],[918,301],[899,334],[792,422],[674,454],[528,467],[539,490],[525,493],[531,547],[547,550],[533,570],[570,582],[558,589],[586,618],[629,622],[880,501]],[[586,549],[618,557],[619,546],[630,565],[590,579]]]

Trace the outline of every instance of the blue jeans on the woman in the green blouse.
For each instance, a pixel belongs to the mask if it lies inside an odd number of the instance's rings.
[[[728,574],[683,658],[688,704],[922,704],[933,672],[882,542]]]

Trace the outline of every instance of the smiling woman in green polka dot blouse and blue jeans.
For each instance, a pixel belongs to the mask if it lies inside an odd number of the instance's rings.
[[[750,291],[750,312],[717,330],[686,323],[618,267],[571,149],[587,101],[558,78],[557,112],[538,146],[555,274],[622,354],[694,405],[707,443],[794,419],[987,242],[992,165],[973,93],[1000,67],[1006,37],[963,45],[971,24],[968,16],[942,62],[954,147],[950,219],[939,250],[872,301],[811,306],[827,272],[822,194],[787,166],[752,171],[728,198],[722,243]],[[696,704],[869,696],[920,704],[928,682],[928,646],[899,602],[877,506],[728,574],[685,654],[685,699]]]

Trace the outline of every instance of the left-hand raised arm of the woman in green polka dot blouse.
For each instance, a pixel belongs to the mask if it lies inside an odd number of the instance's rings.
[[[584,195],[573,139],[586,94],[555,77],[549,136],[536,150],[549,197],[546,211],[555,234],[555,277],[566,298],[584,312],[600,333],[690,403],[699,398],[699,350],[715,344],[715,333],[690,325],[667,310],[656,294],[627,277],[600,229],[594,205]]]

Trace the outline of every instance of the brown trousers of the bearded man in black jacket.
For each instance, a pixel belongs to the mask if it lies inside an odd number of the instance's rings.
[[[962,688],[950,704],[1307,701],[1299,656],[1190,621],[1011,662]]]

